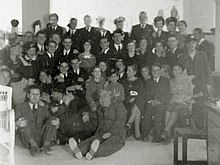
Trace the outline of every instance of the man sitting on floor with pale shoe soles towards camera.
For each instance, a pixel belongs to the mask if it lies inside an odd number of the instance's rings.
[[[77,143],[69,139],[69,146],[77,159],[91,160],[93,157],[105,157],[119,151],[125,144],[125,122],[127,111],[121,102],[111,100],[110,92],[100,91],[98,110],[99,126],[94,136]]]

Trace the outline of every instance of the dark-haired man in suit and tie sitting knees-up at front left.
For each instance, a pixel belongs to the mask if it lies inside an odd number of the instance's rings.
[[[59,120],[51,117],[48,106],[40,101],[40,88],[30,85],[27,92],[28,101],[15,108],[15,121],[22,144],[32,156],[42,151],[52,154],[50,142],[55,140]]]

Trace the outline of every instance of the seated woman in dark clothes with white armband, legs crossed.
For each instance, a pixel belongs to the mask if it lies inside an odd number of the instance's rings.
[[[136,64],[127,67],[127,80],[124,82],[125,88],[125,107],[128,111],[127,128],[131,129],[134,123],[135,139],[141,140],[140,120],[141,112],[144,110],[145,100],[143,81],[136,77],[138,67]]]

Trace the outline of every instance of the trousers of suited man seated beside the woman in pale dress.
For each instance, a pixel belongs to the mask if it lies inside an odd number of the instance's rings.
[[[153,138],[160,139],[165,127],[166,105],[161,104],[153,107],[146,104],[142,119],[142,134],[147,136],[153,131]]]

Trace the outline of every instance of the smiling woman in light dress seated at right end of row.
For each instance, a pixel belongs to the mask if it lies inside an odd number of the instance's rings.
[[[174,78],[170,80],[172,98],[165,117],[165,129],[162,138],[169,138],[170,130],[177,119],[186,119],[189,114],[190,103],[193,97],[193,76],[188,76],[183,66],[176,64],[173,67]]]

